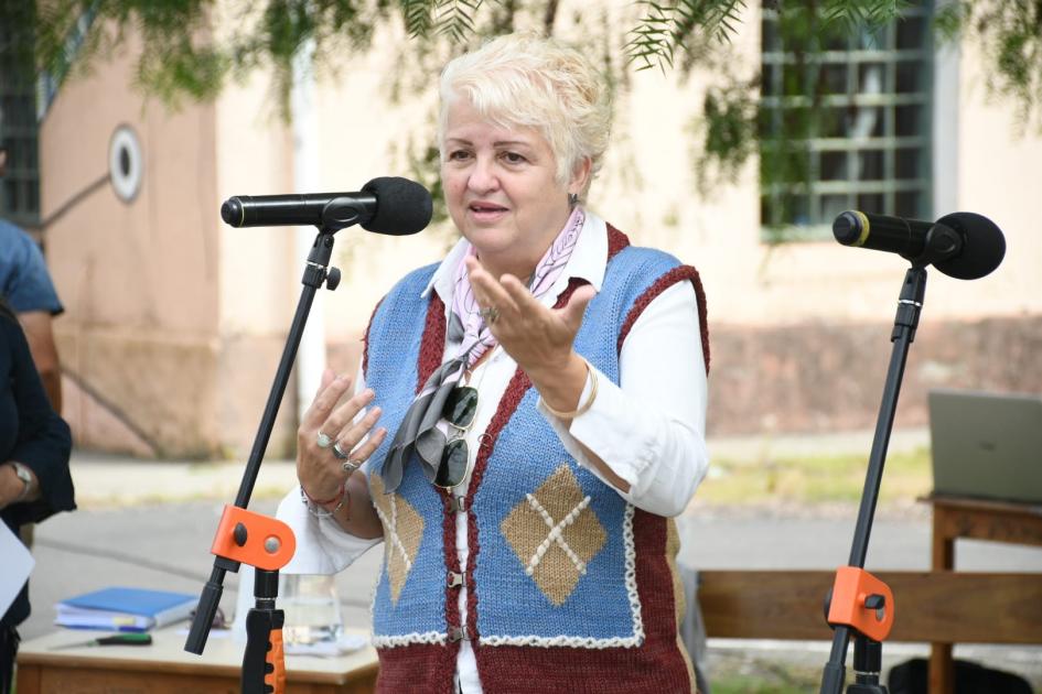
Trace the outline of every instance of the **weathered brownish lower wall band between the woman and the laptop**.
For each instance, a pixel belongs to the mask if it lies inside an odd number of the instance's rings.
[[[710,326],[710,436],[873,429],[893,323]],[[927,423],[931,388],[1042,393],[1042,315],[920,323],[895,426]]]

